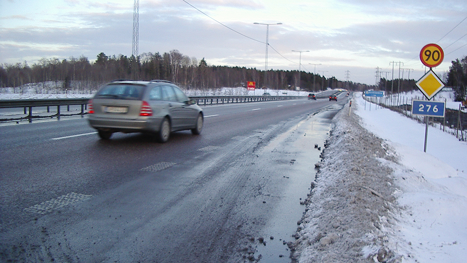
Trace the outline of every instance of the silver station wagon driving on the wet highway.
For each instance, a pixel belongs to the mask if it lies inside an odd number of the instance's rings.
[[[102,139],[114,132],[143,132],[166,142],[173,131],[200,134],[203,111],[166,80],[117,80],[104,85],[88,104],[88,121]]]

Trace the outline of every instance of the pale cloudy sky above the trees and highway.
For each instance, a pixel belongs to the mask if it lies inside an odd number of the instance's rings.
[[[133,0],[0,0],[0,64],[97,54],[131,56]],[[440,45],[451,61],[467,56],[465,0],[140,0],[139,54],[205,58],[210,65],[298,70],[375,84],[379,67],[407,78],[425,67],[423,46]],[[398,77],[398,63],[395,78]],[[409,70],[411,69],[411,70]]]

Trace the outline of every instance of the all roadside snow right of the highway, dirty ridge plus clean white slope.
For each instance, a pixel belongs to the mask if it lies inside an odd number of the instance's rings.
[[[464,262],[467,145],[361,94],[333,119],[292,249],[300,263]],[[355,114],[357,113],[357,114]],[[364,127],[364,128],[363,128]]]

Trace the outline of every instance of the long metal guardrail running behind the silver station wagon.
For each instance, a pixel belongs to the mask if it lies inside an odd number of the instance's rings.
[[[260,102],[260,101],[276,101],[287,99],[305,99],[304,96],[191,96],[191,99],[196,100],[198,105],[216,105],[226,103],[246,103],[246,102]],[[15,100],[0,100],[0,109],[6,108],[24,108],[24,115],[19,118],[1,118],[0,122],[5,121],[21,121],[28,120],[32,122],[33,119],[53,118],[60,119],[63,115],[81,115],[84,117],[87,114],[89,98],[65,98],[65,99],[15,99]],[[67,106],[68,112],[71,105],[81,105],[81,112],[77,114],[62,114],[60,111],[61,106]],[[50,107],[57,107],[57,111],[53,115],[48,116],[34,116],[33,107],[47,107],[47,113],[50,113]]]

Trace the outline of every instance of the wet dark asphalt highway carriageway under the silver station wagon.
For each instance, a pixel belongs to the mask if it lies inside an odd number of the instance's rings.
[[[259,259],[258,235],[290,182],[305,198],[314,179],[294,148],[311,150],[301,140],[313,125],[323,144],[345,98],[206,106],[201,135],[165,144],[138,133],[100,140],[81,117],[0,124],[0,261]],[[287,181],[299,167],[306,182]]]

